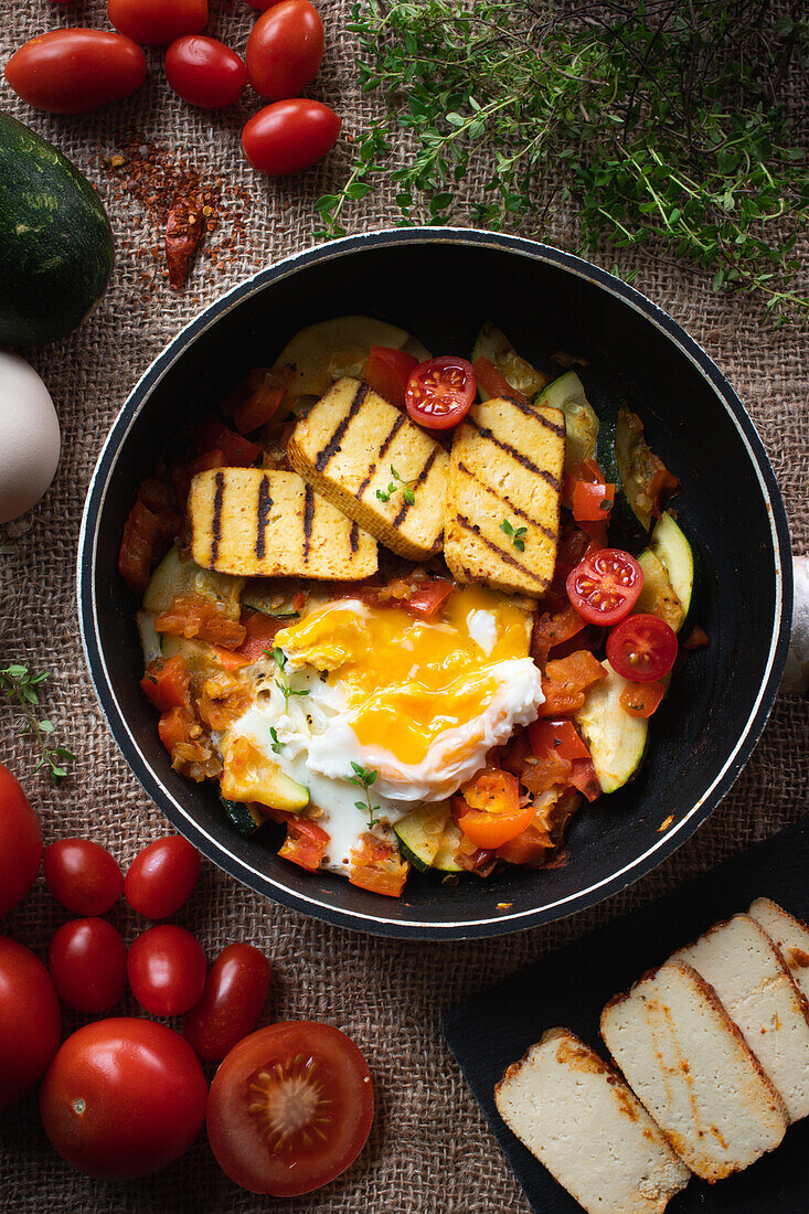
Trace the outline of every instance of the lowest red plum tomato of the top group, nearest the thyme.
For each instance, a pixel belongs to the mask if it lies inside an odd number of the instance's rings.
[[[343,119],[319,101],[276,101],[245,124],[242,147],[258,172],[283,177],[322,160],[341,126]]]

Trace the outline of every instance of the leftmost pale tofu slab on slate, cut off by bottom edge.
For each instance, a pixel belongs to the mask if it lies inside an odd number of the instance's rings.
[[[566,1028],[511,1063],[494,1102],[588,1214],[662,1214],[691,1175],[620,1076]]]

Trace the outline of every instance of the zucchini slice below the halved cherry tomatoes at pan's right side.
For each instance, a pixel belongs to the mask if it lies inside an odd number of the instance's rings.
[[[624,713],[620,702],[627,680],[609,662],[602,665],[606,679],[590,688],[573,716],[593,758],[601,790],[615,793],[637,775],[643,762],[649,721]]]

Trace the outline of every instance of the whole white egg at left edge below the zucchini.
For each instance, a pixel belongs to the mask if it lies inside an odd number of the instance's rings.
[[[50,392],[24,358],[0,351],[0,523],[45,494],[60,461],[60,422]]]

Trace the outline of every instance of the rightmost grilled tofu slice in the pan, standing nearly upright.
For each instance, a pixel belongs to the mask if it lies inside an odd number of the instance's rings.
[[[545,592],[556,563],[564,465],[561,409],[494,398],[469,410],[452,443],[443,538],[458,582],[534,599]]]

